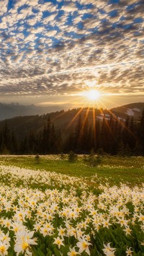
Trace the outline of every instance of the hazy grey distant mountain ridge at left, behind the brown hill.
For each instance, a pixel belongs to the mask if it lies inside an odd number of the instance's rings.
[[[35,105],[19,105],[19,103],[0,103],[0,120],[24,115],[43,115],[48,112],[60,110],[58,106],[39,107]]]

